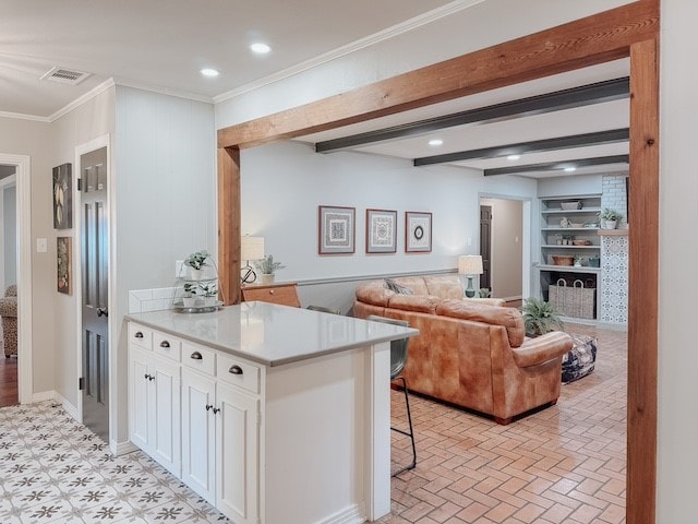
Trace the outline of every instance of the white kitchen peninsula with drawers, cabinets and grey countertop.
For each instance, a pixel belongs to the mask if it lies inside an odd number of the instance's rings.
[[[267,302],[127,319],[131,440],[233,522],[389,512],[389,341],[417,330]]]

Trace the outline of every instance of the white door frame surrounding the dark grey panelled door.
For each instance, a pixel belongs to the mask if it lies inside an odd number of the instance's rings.
[[[85,142],[75,146],[75,169],[73,170],[73,202],[75,213],[73,213],[73,260],[75,261],[75,271],[74,271],[74,282],[75,282],[75,326],[77,333],[77,343],[75,344],[75,371],[76,378],[80,379],[83,373],[83,317],[82,317],[82,303],[83,303],[83,269],[82,269],[82,234],[83,234],[83,216],[82,216],[82,192],[77,190],[77,179],[82,175],[82,164],[81,156],[99,150],[101,147],[107,147],[107,200],[105,201],[105,214],[107,216],[107,221],[109,222],[108,230],[109,230],[109,241],[107,245],[107,260],[109,261],[109,271],[107,273],[107,293],[109,294],[109,298],[107,300],[107,309],[111,313],[116,311],[115,309],[115,243],[116,243],[116,229],[113,227],[113,221],[111,217],[111,199],[113,198],[113,172],[111,169],[111,141],[109,134],[103,134],[101,136],[97,136],[96,139],[91,140],[89,142]],[[115,433],[115,424],[116,424],[116,414],[115,414],[115,388],[117,385],[118,378],[116,377],[117,366],[116,362],[116,352],[115,352],[115,341],[117,340],[117,333],[115,333],[115,322],[112,320],[112,314],[107,317],[107,333],[109,334],[108,344],[109,348],[107,354],[109,355],[109,449],[112,453],[116,453],[116,433]],[[77,381],[75,381],[75,389],[77,391],[76,403],[75,403],[75,415],[77,420],[82,424],[83,421],[83,394],[79,388]]]

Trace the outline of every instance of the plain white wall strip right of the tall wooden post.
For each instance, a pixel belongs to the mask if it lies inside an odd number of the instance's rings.
[[[697,2],[662,1],[658,523],[696,522],[696,20]]]

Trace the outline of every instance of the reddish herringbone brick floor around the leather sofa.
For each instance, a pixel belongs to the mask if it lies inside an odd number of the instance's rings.
[[[387,524],[625,523],[627,333],[595,336],[594,371],[509,426],[410,395],[418,464],[393,479]],[[405,401],[393,392],[393,424]],[[410,460],[393,433],[393,467]]]

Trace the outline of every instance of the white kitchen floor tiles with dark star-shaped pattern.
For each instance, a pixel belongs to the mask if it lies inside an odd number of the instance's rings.
[[[0,523],[230,522],[144,453],[115,457],[52,403],[0,409]]]

